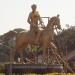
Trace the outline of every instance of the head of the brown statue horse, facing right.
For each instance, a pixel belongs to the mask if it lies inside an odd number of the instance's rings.
[[[52,18],[50,19],[48,25],[51,26],[52,28],[61,29],[59,16],[57,15],[57,16],[52,17]]]

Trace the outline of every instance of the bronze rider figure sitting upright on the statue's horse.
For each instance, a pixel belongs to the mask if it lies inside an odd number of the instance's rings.
[[[31,9],[32,9],[32,12],[29,13],[27,21],[30,24],[30,30],[37,35],[35,43],[38,43],[38,40],[41,35],[41,32],[39,31],[39,27],[38,27],[38,22],[39,22],[39,24],[41,24],[41,26],[43,26],[43,21],[39,15],[38,11],[36,11],[37,6],[35,4],[33,4],[31,6]]]

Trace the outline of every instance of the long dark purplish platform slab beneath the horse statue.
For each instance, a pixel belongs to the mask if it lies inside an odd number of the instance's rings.
[[[7,73],[37,73],[45,74],[51,72],[62,72],[63,67],[60,65],[41,65],[41,64],[6,64]],[[8,74],[10,75],[10,74]]]

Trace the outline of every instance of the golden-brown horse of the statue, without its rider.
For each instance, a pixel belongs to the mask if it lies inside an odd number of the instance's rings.
[[[45,54],[45,51],[52,47],[56,48],[56,46],[52,43],[53,35],[54,35],[54,27],[57,27],[58,29],[61,29],[60,21],[57,17],[52,17],[47,26],[44,28],[44,30],[41,31],[39,44],[43,48],[43,56]],[[15,55],[15,51],[17,50],[21,56],[21,62],[23,62],[23,51],[25,47],[27,47],[28,44],[32,45],[35,44],[36,35],[29,32],[21,32],[16,37],[16,49],[13,51],[13,57]],[[36,43],[37,45],[37,43]],[[13,58],[14,60],[14,58]]]

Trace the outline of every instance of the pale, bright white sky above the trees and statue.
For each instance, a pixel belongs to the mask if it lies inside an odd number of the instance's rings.
[[[75,0],[0,0],[0,35],[15,28],[29,30],[27,17],[32,4],[37,5],[41,17],[60,14],[62,28],[75,25]]]

